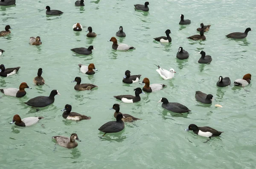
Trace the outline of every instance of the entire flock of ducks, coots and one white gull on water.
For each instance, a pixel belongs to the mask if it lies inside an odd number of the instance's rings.
[[[15,5],[15,0],[1,0],[0,5],[2,5],[2,6]],[[84,6],[84,0],[77,0],[75,2],[75,5],[76,6]],[[140,5],[140,4],[134,5],[134,8],[135,8],[135,10],[149,11],[148,5],[150,5],[150,4],[148,2],[145,2],[144,5]],[[47,9],[47,11],[46,11],[47,15],[63,14],[62,11],[51,10],[49,6],[46,6],[46,9]],[[186,24],[190,24],[190,23],[191,23],[190,20],[184,20],[183,14],[180,15],[180,23],[179,23],[180,25],[186,25]],[[211,25],[204,25],[203,23],[201,23],[200,28],[197,28],[197,31],[200,31],[200,35],[194,35],[194,36],[187,37],[187,38],[192,39],[192,40],[205,40],[206,37],[204,36],[204,32],[209,31],[210,26]],[[83,30],[83,26],[80,23],[75,23],[72,28],[74,31],[82,31]],[[12,29],[10,27],[10,25],[6,25],[5,31],[0,31],[0,37],[10,34],[11,33],[10,29]],[[87,37],[95,38],[97,36],[97,34],[92,31],[92,27],[89,26],[87,28],[87,31],[89,31],[89,33],[87,34]],[[249,31],[252,31],[252,30],[250,28],[247,28],[244,33],[235,32],[235,33],[228,34],[227,37],[242,39],[242,38],[247,37],[247,33]],[[166,37],[157,37],[157,38],[154,38],[154,40],[162,42],[162,43],[172,42],[172,38],[169,35],[169,34],[171,34],[171,31],[169,29],[167,29],[165,33],[166,33]],[[122,26],[120,26],[119,31],[116,32],[116,36],[117,37],[126,37],[126,34],[123,31]],[[111,37],[111,39],[109,41],[113,42],[112,48],[114,50],[127,51],[127,50],[134,49],[134,47],[131,45],[118,44],[117,39],[115,37]],[[39,36],[38,37],[30,37],[29,44],[41,45],[42,44],[41,38]],[[90,54],[92,54],[93,49],[95,49],[95,48],[94,48],[94,46],[91,45],[88,48],[73,48],[73,49],[71,49],[71,51],[76,52],[77,54],[90,55]],[[3,52],[4,52],[4,50],[0,49],[0,55],[3,54]],[[206,55],[206,53],[204,51],[200,51],[200,54],[201,54],[201,58],[198,60],[199,63],[209,64],[212,61],[212,57],[209,55]],[[189,52],[185,51],[183,49],[183,47],[180,47],[178,49],[176,57],[181,60],[188,59]],[[93,75],[93,74],[95,74],[94,70],[97,70],[93,63],[91,63],[88,66],[82,65],[82,64],[79,64],[78,66],[79,66],[80,71],[87,75]],[[156,69],[157,73],[159,73],[160,76],[164,80],[174,78],[174,74],[176,72],[173,68],[171,68],[170,70],[165,70],[165,69],[161,68],[159,65],[156,65],[156,66],[157,66],[157,69]],[[11,75],[17,73],[17,71],[19,69],[20,69],[20,67],[5,68],[5,66],[2,64],[2,65],[0,65],[0,76],[2,76],[2,77],[11,76]],[[45,84],[45,80],[41,76],[42,73],[43,73],[42,68],[39,68],[38,76],[36,76],[33,79],[33,82],[35,85],[44,85]],[[136,82],[139,82],[140,77],[141,77],[141,75],[131,75],[131,71],[126,70],[125,76],[124,76],[122,82],[127,83],[127,84],[136,83]],[[244,75],[243,79],[235,80],[234,85],[245,87],[248,84],[250,84],[250,80],[251,80],[251,74],[248,73],[248,74]],[[81,84],[81,77],[76,77],[72,82],[76,82],[74,89],[78,90],[78,91],[91,90],[95,87],[98,87],[93,84]],[[164,87],[166,87],[166,85],[164,85],[164,84],[150,84],[150,81],[147,77],[145,77],[143,79],[143,81],[140,82],[140,84],[145,84],[145,85],[144,85],[143,89],[141,89],[140,87],[137,87],[136,89],[134,89],[135,96],[119,95],[119,96],[113,96],[113,97],[118,100],[121,100],[124,103],[135,103],[135,102],[140,101],[140,94],[143,93],[143,91],[151,93],[151,92],[155,92],[155,91],[161,90]],[[230,81],[229,77],[223,78],[222,76],[220,76],[216,85],[218,87],[226,87],[230,84],[231,84],[231,81]],[[26,88],[31,89],[31,87],[29,87],[25,82],[23,82],[20,84],[19,89],[4,88],[4,89],[0,89],[0,91],[4,95],[20,98],[20,97],[23,97],[26,95],[26,91],[25,91]],[[60,95],[58,90],[52,90],[49,96],[38,96],[33,99],[30,99],[29,101],[26,101],[25,104],[31,106],[32,108],[36,108],[38,111],[39,110],[38,108],[46,107],[46,106],[52,104],[55,100],[56,95]],[[212,104],[213,96],[212,96],[212,94],[206,94],[201,91],[196,91],[195,99],[204,104]],[[162,107],[164,109],[172,111],[174,113],[189,113],[191,111],[191,110],[189,110],[188,107],[184,106],[183,104],[176,103],[176,102],[169,102],[168,99],[166,99],[164,97],[161,98],[160,101],[158,101],[158,102],[162,102]],[[125,127],[124,121],[131,122],[131,121],[135,121],[135,120],[141,120],[140,118],[136,118],[129,114],[122,114],[120,112],[119,104],[113,104],[113,107],[111,109],[115,110],[114,117],[116,118],[116,121],[109,121],[109,122],[103,124],[101,127],[99,127],[99,130],[104,132],[105,134],[122,131]],[[81,115],[76,112],[71,112],[71,110],[72,110],[72,106],[70,104],[66,104],[64,109],[61,110],[61,111],[63,111],[63,114],[62,114],[63,118],[65,118],[67,120],[74,120],[74,121],[90,119],[90,117],[88,117],[86,115]],[[13,120],[10,124],[15,123],[17,126],[27,127],[27,126],[31,126],[31,125],[37,123],[42,118],[43,117],[27,117],[27,118],[21,119],[19,115],[14,115]],[[189,128],[187,130],[192,130],[194,133],[204,136],[204,137],[208,137],[208,138],[211,138],[214,136],[219,136],[222,133],[215,129],[212,129],[211,127],[198,127],[195,124],[190,124]],[[70,136],[70,138],[65,137],[65,136],[53,136],[52,138],[54,138],[56,140],[57,144],[59,144],[60,146],[67,147],[67,148],[76,147],[78,144],[76,143],[75,140],[80,141],[78,138],[78,135],[76,133],[73,133]]]

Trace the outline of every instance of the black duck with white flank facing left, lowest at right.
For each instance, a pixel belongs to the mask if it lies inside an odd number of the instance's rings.
[[[190,124],[189,128],[186,129],[186,131],[192,130],[195,134],[203,136],[203,137],[217,137],[221,135],[222,132],[213,129],[212,127],[197,127],[195,124]]]

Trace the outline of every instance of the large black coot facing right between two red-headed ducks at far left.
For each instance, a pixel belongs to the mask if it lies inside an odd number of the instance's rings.
[[[61,94],[58,93],[58,90],[52,90],[50,93],[50,96],[37,96],[24,103],[31,106],[32,108],[47,107],[54,102],[55,100],[54,96],[56,95],[61,95]],[[36,109],[36,110],[39,111],[39,109]]]

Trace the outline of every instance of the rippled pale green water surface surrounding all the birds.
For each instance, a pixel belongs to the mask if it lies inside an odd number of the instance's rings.
[[[137,169],[137,168],[255,168],[255,90],[254,80],[245,88],[216,87],[219,76],[229,76],[233,82],[256,70],[254,55],[256,35],[250,31],[246,39],[226,39],[231,32],[243,32],[247,27],[253,30],[255,1],[150,1],[149,12],[134,11],[136,0],[86,1],[84,7],[75,7],[75,1],[45,0],[17,1],[13,7],[0,7],[1,30],[9,24],[13,28],[8,37],[0,37],[0,48],[6,52],[0,56],[0,63],[6,68],[20,66],[19,73],[0,78],[0,87],[19,87],[27,82],[25,97],[17,99],[3,96],[0,99],[0,163],[1,168],[74,168],[86,169]],[[45,6],[64,12],[61,16],[46,17]],[[191,24],[180,26],[179,16],[184,14]],[[84,28],[75,32],[76,22],[92,26],[98,34],[95,39],[86,37]],[[205,33],[206,41],[186,39],[199,34],[200,23],[212,25]],[[113,51],[112,42],[122,25],[127,35],[117,38],[136,47],[133,51]],[[161,45],[154,37],[172,31],[172,43]],[[40,36],[42,45],[29,45],[29,37]],[[71,48],[94,45],[96,50],[90,56],[76,55]],[[178,48],[189,51],[189,59],[176,59]],[[212,56],[210,65],[201,65],[199,51]],[[93,76],[79,73],[78,64],[94,63],[99,70]],[[154,64],[163,68],[174,68],[177,74],[172,80],[163,80],[155,71]],[[46,85],[33,85],[38,68]],[[114,103],[120,101],[114,95],[134,94],[133,89],[143,87],[138,83],[125,85],[122,77],[125,70],[131,74],[142,74],[151,83],[163,83],[167,87],[156,93],[142,95],[135,104],[121,104],[121,112],[143,118],[141,121],[125,124],[125,130],[116,134],[103,133],[98,128],[114,120]],[[74,80],[80,76],[82,83],[93,83],[99,88],[92,91],[75,91]],[[141,81],[142,81],[141,79]],[[55,96],[54,104],[35,113],[23,102],[36,96],[48,96],[57,89],[61,96]],[[246,90],[245,90],[246,89]],[[211,93],[215,101],[205,106],[195,101],[195,91]],[[2,95],[1,95],[2,96]],[[189,107],[188,115],[177,115],[163,110],[157,101],[166,97]],[[91,116],[87,121],[67,121],[62,118],[61,109],[71,104],[73,111]],[[221,104],[223,107],[215,107]],[[9,124],[12,117],[44,116],[32,127],[20,128]],[[41,126],[44,125],[45,128]],[[185,132],[189,124],[210,126],[224,131],[221,138],[206,138]],[[75,149],[57,146],[51,139],[54,135],[70,136],[76,132],[81,139]]]

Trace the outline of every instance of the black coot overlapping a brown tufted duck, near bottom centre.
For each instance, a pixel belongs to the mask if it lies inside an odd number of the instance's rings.
[[[125,128],[125,123],[122,121],[122,118],[125,118],[122,114],[116,115],[116,121],[108,121],[99,127],[99,131],[105,132],[103,137],[107,133],[120,132]]]

